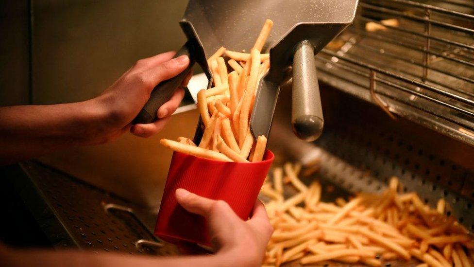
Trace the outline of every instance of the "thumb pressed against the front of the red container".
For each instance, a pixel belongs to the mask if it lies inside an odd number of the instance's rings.
[[[176,190],[176,200],[186,211],[207,217],[216,200],[193,194],[185,189]]]

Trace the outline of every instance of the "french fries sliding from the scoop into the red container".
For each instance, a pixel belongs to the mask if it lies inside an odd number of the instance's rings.
[[[207,60],[214,87],[198,93],[197,106],[205,127],[199,145],[184,137],[180,137],[178,142],[162,139],[161,144],[210,160],[263,160],[267,138],[262,135],[254,141],[250,132],[250,115],[258,83],[270,68],[269,54],[261,51],[272,26],[273,22],[267,19],[250,53],[228,51],[221,47]],[[230,73],[224,56],[233,70]]]

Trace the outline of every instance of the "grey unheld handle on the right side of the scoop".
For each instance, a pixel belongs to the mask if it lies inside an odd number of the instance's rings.
[[[322,134],[321,96],[314,59],[314,47],[309,41],[300,42],[293,57],[293,91],[291,123],[295,135],[307,142]]]

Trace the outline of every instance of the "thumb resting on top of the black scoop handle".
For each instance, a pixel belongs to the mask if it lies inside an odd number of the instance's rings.
[[[146,71],[145,75],[149,75],[152,78],[153,83],[157,85],[161,81],[168,80],[178,75],[184,71],[188,65],[189,57],[187,57],[187,55],[181,55],[151,68]]]

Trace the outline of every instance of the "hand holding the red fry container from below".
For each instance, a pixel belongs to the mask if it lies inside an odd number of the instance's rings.
[[[256,200],[251,218],[240,219],[223,200],[212,200],[184,189],[176,190],[176,199],[188,212],[204,216],[216,255],[228,258],[233,266],[260,266],[273,228],[260,200]]]

